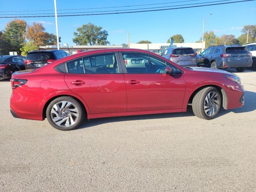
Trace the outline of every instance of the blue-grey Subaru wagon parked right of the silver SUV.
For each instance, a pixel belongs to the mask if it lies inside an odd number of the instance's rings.
[[[236,68],[243,72],[252,66],[252,54],[244,46],[210,46],[197,57],[198,66],[210,68]]]

